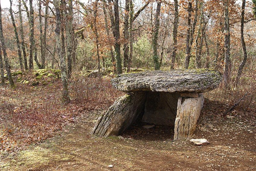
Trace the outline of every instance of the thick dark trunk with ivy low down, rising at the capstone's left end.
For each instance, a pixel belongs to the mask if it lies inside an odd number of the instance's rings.
[[[122,74],[122,61],[121,61],[121,50],[120,50],[120,30],[119,30],[119,9],[118,0],[114,1],[114,13],[115,13],[115,56],[116,56],[116,68],[117,74]]]

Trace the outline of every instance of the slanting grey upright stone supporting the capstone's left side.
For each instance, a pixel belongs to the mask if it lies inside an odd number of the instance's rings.
[[[127,93],[119,97],[107,112],[99,117],[92,134],[100,137],[121,134],[144,112],[145,101],[145,92]]]

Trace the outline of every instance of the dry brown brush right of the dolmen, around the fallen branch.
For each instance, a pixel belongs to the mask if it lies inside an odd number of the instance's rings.
[[[233,73],[236,75],[236,73]],[[233,112],[228,115],[242,115],[255,117],[256,112],[256,72],[247,71],[243,73],[238,85],[235,84],[235,77],[231,79],[228,86],[221,84],[219,88],[214,91],[205,93],[205,96],[212,101],[218,101],[219,106],[216,110],[222,115],[228,108],[232,107],[236,102],[238,106],[234,108]],[[243,96],[245,98],[243,98]],[[215,104],[215,105],[218,105]],[[213,107],[214,108],[214,107]]]

